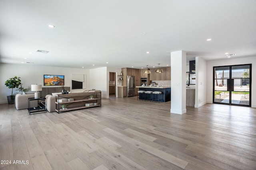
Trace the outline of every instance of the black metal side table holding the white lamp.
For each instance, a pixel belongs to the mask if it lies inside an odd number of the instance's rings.
[[[33,100],[38,100],[38,107],[30,107],[30,102]],[[28,112],[30,115],[38,114],[36,112],[44,113],[46,112],[46,98],[28,98]],[[32,114],[34,113],[34,114]]]

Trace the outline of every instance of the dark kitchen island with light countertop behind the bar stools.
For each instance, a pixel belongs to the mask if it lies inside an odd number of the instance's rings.
[[[145,91],[159,91],[162,92],[162,102],[169,102],[171,100],[171,86],[163,86],[163,87],[156,87],[156,86],[136,86],[136,88],[139,88],[139,90],[145,90]],[[142,99],[143,94],[139,94],[139,98]],[[153,98],[153,94],[151,94]],[[161,99],[161,97],[160,97]]]

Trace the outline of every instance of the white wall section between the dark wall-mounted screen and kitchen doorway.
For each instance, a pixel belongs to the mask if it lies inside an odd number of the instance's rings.
[[[102,98],[109,98],[107,67],[90,69],[90,89],[101,90]]]

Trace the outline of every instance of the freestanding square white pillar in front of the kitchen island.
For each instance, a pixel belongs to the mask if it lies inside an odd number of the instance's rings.
[[[171,52],[171,113],[186,113],[186,52]]]

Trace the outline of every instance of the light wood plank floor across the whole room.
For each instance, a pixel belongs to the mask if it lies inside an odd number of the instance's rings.
[[[176,115],[170,102],[111,97],[29,115],[1,104],[0,160],[11,161],[0,170],[255,170],[256,109],[206,104]]]

